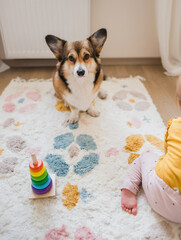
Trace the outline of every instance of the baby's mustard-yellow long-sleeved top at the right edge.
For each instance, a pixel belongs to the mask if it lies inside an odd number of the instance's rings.
[[[181,118],[168,122],[165,133],[165,155],[155,167],[157,175],[181,193]]]

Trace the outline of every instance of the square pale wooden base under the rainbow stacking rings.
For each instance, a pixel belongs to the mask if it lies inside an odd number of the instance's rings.
[[[33,192],[32,187],[31,187],[31,179],[30,179],[30,191],[29,191],[29,199],[39,199],[39,198],[48,198],[48,197],[56,197],[56,192],[55,192],[55,174],[50,175],[52,179],[52,188],[50,189],[49,192],[45,194],[36,194]]]

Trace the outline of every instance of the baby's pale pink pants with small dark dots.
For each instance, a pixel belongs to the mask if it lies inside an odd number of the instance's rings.
[[[181,223],[181,194],[157,176],[155,165],[158,159],[157,154],[143,153],[130,165],[121,189],[126,188],[136,195],[142,183],[153,210],[170,221]]]

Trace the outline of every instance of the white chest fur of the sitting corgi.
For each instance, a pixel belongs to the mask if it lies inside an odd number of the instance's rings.
[[[95,74],[89,73],[86,77],[68,78],[69,88],[71,89],[65,99],[72,106],[80,111],[86,111],[92,101],[95,99],[97,93],[93,93]]]

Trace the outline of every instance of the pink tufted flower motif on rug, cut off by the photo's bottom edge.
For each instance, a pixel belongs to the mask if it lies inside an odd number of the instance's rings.
[[[44,240],[68,240],[69,234],[66,231],[65,225],[61,228],[52,228],[45,235]],[[107,240],[101,236],[96,236],[89,228],[82,226],[76,229],[74,234],[75,240]]]

